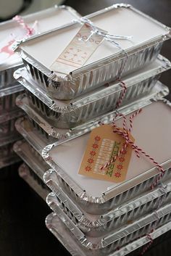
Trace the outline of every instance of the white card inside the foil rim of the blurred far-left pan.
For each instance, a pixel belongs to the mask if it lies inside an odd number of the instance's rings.
[[[72,12],[67,11],[67,9],[59,9],[59,8],[50,8],[41,12],[36,12],[31,15],[27,15],[23,17],[25,24],[27,24],[30,28],[33,27],[35,21],[37,24],[34,26],[35,33],[43,33],[48,30],[60,27],[64,24],[72,22],[75,19],[76,15]],[[22,26],[13,20],[9,22],[4,22],[0,25],[0,67],[4,62],[12,62],[14,60],[19,61],[19,57],[17,54],[9,57],[8,52],[1,52],[1,48],[7,46],[8,41],[11,41],[12,38],[16,40],[22,39],[26,35],[26,30],[22,28]]]

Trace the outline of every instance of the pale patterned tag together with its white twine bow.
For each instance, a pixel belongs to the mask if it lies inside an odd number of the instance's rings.
[[[57,70],[60,73],[71,73],[73,70],[83,67],[103,40],[109,41],[109,43],[124,51],[122,46],[116,42],[116,39],[130,40],[132,38],[132,36],[110,35],[106,31],[97,28],[86,17],[81,17],[75,21],[79,22],[82,27],[62,51],[62,54],[52,63],[51,70]]]

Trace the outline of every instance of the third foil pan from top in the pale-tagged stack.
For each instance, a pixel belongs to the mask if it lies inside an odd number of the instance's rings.
[[[138,99],[137,101],[131,102],[129,106],[123,106],[120,107],[120,111],[126,111],[128,110],[133,111],[133,109],[138,109],[138,107],[143,107],[146,104],[149,104],[150,99],[161,99],[163,96],[166,96],[169,93],[167,86],[162,85],[162,83],[157,82],[154,86],[154,88],[149,91],[149,94],[146,96],[143,96],[141,99]],[[91,130],[91,128],[96,127],[99,125],[99,122],[103,123],[109,123],[113,120],[114,112],[109,112],[108,114],[101,115],[100,117],[96,117],[93,120],[89,120],[86,123],[83,123],[83,125],[78,125],[75,128],[72,129],[59,129],[55,128],[54,126],[49,123],[49,120],[43,117],[43,115],[40,115],[35,108],[31,107],[28,102],[28,97],[25,96],[25,94],[17,97],[17,106],[20,107],[22,110],[25,111],[25,113],[30,118],[30,121],[33,123],[33,126],[40,131],[40,133],[43,134],[43,136],[46,136],[47,139],[49,139],[49,143],[53,141],[53,138],[55,139],[64,139],[64,138],[70,138],[71,136],[76,135],[82,135],[84,133],[87,133]],[[43,104],[41,104],[43,107]],[[49,144],[48,143],[48,144]]]

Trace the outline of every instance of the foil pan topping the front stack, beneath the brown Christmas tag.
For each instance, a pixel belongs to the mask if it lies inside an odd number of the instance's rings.
[[[139,105],[139,107],[141,106]],[[146,105],[146,107],[143,107],[141,117],[139,119],[137,117],[136,120],[138,122],[133,126],[132,132],[136,144],[139,146],[143,145],[143,149],[149,155],[155,156],[155,159],[164,168],[165,173],[161,181],[171,177],[170,107],[171,103],[164,99]],[[128,107],[125,110],[125,115],[129,117],[130,113],[134,111],[135,109],[131,110]],[[157,125],[155,125],[154,130],[155,122]],[[122,117],[118,118],[116,123],[122,127]],[[136,135],[134,135],[135,133]],[[144,137],[142,134],[146,134],[146,136]],[[130,162],[128,167],[126,181],[114,183],[78,175],[88,137],[89,133],[83,136],[77,136],[76,138],[72,137],[65,141],[55,142],[46,146],[42,152],[43,159],[54,169],[49,173],[49,179],[46,179],[47,185],[52,191],[56,192],[56,188],[60,182],[60,186],[64,188],[66,193],[70,194],[72,198],[75,198],[78,205],[87,212],[104,214],[118,207],[121,203],[148,190],[159,176],[159,170],[149,160],[146,160],[146,158],[136,157],[135,152],[132,152],[133,161]],[[160,147],[156,145],[157,143],[160,144]],[[70,165],[70,168],[65,166],[67,164]]]

